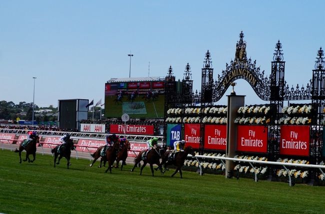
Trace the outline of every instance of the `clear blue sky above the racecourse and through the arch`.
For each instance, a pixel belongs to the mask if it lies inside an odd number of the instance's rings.
[[[324,0],[0,0],[0,100],[57,106],[59,99],[104,101],[112,77],[177,79],[191,66],[200,89],[204,54],[213,77],[234,58],[242,30],[247,57],[270,74],[277,40],[285,80],[306,85],[325,46]],[[246,104],[260,100],[245,80],[235,91]],[[225,95],[231,91],[228,88]],[[226,104],[226,96],[217,104]]]

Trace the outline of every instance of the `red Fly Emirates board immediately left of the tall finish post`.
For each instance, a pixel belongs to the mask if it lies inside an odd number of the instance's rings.
[[[204,149],[224,150],[227,144],[226,125],[205,125]]]

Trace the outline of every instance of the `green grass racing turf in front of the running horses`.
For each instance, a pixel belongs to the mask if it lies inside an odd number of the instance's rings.
[[[24,154],[22,156],[24,157]],[[324,187],[295,185],[173,170],[151,176],[145,167],[129,172],[89,168],[89,160],[65,159],[53,168],[51,156],[18,163],[18,154],[0,150],[0,213],[138,214],[321,214]]]

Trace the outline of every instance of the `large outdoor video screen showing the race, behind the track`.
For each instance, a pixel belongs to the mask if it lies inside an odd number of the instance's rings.
[[[163,118],[164,82],[105,84],[105,117]]]

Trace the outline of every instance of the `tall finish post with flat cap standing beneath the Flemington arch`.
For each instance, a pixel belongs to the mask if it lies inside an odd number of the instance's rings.
[[[228,158],[235,156],[237,145],[237,124],[234,120],[237,118],[237,110],[244,106],[245,96],[236,95],[234,91],[227,95],[228,97],[228,111],[227,111],[227,145],[225,155]],[[225,178],[232,177],[234,163],[232,161],[225,161]]]

